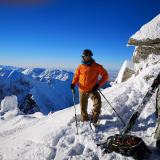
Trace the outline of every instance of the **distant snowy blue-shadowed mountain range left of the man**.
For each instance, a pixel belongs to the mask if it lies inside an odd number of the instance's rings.
[[[48,114],[73,105],[70,89],[74,73],[65,70],[26,69],[0,66],[0,101],[16,95],[18,107],[25,114],[37,111]],[[78,86],[75,101],[79,102]]]

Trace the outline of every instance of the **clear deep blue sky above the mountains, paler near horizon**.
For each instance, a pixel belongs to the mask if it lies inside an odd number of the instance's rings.
[[[97,63],[120,69],[132,59],[129,38],[160,14],[160,0],[6,1],[0,0],[0,65],[17,67],[76,69],[90,49]]]

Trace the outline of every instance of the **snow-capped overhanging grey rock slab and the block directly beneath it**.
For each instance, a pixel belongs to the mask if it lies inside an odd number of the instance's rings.
[[[127,45],[136,46],[132,57],[134,63],[147,59],[150,54],[160,55],[160,14],[142,26]]]

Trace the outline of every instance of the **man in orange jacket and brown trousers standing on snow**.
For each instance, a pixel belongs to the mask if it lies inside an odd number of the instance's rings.
[[[93,53],[90,50],[86,49],[83,51],[82,64],[78,66],[70,88],[74,89],[79,82],[79,102],[81,107],[82,122],[88,121],[88,96],[92,99],[94,109],[92,110],[91,126],[97,127],[96,123],[101,110],[101,97],[97,89],[108,80],[109,75],[103,66],[95,62],[92,56]],[[102,78],[97,83],[99,74]]]

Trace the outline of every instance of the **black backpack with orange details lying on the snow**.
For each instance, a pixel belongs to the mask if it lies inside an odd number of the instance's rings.
[[[151,151],[144,141],[136,136],[115,134],[107,139],[107,142],[98,144],[105,148],[105,153],[117,152],[124,156],[131,156],[136,160],[149,158]]]

